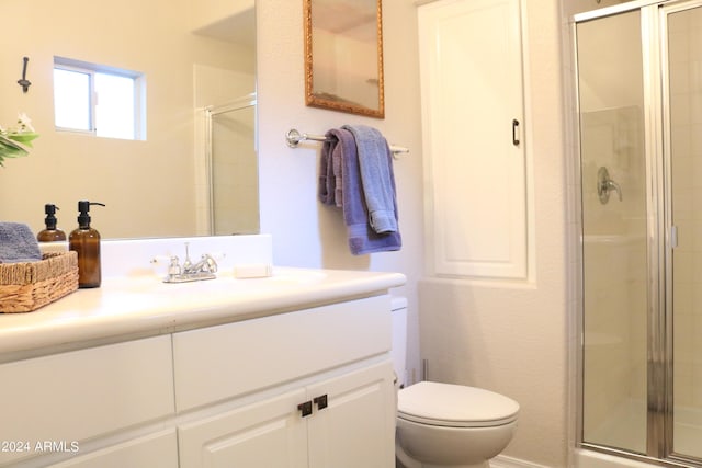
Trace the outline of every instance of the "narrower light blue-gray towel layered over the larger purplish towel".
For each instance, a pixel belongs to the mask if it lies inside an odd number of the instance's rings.
[[[367,125],[344,125],[355,138],[369,222],[375,232],[397,232],[390,149],[383,134]]]

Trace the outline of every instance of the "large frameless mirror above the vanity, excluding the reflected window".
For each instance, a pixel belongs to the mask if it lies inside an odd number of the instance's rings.
[[[0,123],[24,112],[41,135],[0,168],[0,219],[38,231],[54,203],[69,232],[89,199],[107,239],[258,231],[254,0],[3,0],[0,14]],[[146,139],[56,130],[56,56],[143,73]]]

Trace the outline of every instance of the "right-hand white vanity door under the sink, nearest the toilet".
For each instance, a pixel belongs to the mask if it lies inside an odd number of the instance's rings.
[[[307,388],[309,468],[395,466],[393,365],[356,370]],[[321,407],[321,409],[320,409]]]

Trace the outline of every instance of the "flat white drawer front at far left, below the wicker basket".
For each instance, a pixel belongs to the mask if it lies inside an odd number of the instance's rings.
[[[0,466],[173,414],[172,377],[170,335],[0,365],[0,441],[27,448],[0,453]]]

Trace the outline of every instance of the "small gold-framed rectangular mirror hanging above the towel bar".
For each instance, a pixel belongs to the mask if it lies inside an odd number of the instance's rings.
[[[307,105],[385,117],[381,0],[305,0]]]

